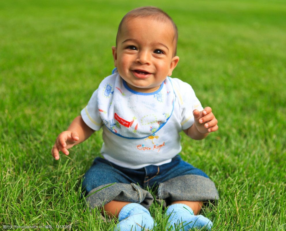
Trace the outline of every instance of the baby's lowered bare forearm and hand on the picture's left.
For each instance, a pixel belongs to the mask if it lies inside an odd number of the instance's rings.
[[[68,127],[68,130],[63,131],[57,137],[57,140],[52,148],[52,156],[58,160],[59,151],[68,155],[69,148],[72,148],[76,144],[85,141],[91,136],[92,133],[94,133],[94,130],[85,124],[82,117],[76,117]]]

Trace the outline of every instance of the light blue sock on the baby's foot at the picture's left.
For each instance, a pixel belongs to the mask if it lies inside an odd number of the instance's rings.
[[[118,215],[117,229],[120,231],[141,231],[143,228],[152,229],[154,220],[149,211],[140,204],[125,205]]]

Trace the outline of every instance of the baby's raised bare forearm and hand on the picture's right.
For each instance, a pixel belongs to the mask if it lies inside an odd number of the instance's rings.
[[[218,130],[218,121],[212,113],[212,108],[205,107],[204,110],[193,110],[195,122],[184,132],[194,140],[202,140],[208,133]]]

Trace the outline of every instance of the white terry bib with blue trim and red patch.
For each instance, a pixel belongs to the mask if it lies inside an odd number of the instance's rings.
[[[98,87],[98,110],[105,126],[124,138],[146,138],[161,129],[174,107],[174,90],[169,77],[152,93],[130,89],[118,72]]]

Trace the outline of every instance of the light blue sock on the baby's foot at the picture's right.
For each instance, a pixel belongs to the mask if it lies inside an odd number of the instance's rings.
[[[184,204],[170,205],[166,214],[169,216],[168,222],[170,225],[168,228],[171,228],[171,226],[175,228],[175,225],[183,226],[180,230],[189,230],[191,228],[210,230],[212,228],[212,222],[208,218],[202,215],[194,215],[192,209]]]

